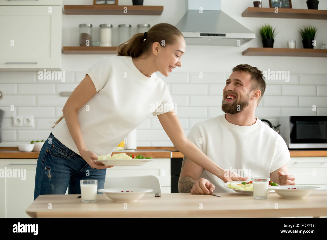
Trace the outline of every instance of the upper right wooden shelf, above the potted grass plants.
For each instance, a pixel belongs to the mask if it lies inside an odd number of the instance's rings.
[[[327,19],[327,10],[278,8],[275,13],[275,8],[247,8],[242,17]]]

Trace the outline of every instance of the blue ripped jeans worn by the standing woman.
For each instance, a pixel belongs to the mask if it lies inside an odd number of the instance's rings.
[[[52,133],[40,151],[35,174],[34,200],[44,194],[81,194],[81,179],[98,180],[104,187],[106,169],[91,168],[76,152],[63,145]],[[98,194],[102,194],[97,192]]]

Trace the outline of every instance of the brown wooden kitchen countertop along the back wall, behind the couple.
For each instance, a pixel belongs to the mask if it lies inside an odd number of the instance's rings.
[[[114,151],[112,154],[125,152],[126,154],[137,153],[144,157],[152,158],[176,158],[184,157],[175,147],[137,147],[136,151]],[[327,157],[327,150],[291,150],[291,157]],[[38,158],[40,152],[20,152],[18,147],[0,147],[1,158]]]

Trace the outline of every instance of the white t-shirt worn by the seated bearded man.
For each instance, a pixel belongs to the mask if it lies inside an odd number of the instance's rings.
[[[290,160],[287,145],[277,132],[256,118],[250,126],[228,122],[225,114],[198,122],[187,135],[219,167],[242,177],[270,177]],[[215,192],[234,192],[224,181],[204,170],[201,178],[215,185]],[[250,181],[250,180],[249,180]]]

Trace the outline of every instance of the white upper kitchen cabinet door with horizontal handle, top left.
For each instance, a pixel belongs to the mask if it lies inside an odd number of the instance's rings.
[[[61,14],[61,4],[1,6],[0,71],[61,70]]]

